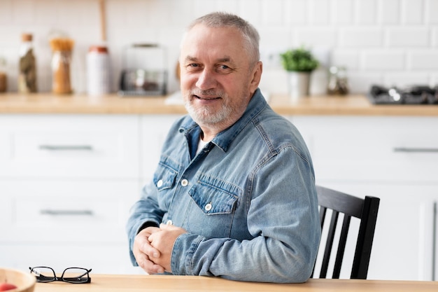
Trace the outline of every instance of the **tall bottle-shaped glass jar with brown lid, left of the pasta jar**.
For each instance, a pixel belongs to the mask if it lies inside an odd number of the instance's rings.
[[[36,60],[32,39],[32,34],[22,34],[18,74],[18,92],[22,93],[36,92]]]

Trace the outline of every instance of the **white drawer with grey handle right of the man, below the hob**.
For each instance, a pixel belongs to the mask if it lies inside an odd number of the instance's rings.
[[[438,118],[293,118],[317,179],[436,181]]]

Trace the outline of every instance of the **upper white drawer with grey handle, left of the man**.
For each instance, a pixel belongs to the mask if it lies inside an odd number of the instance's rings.
[[[0,176],[138,178],[138,136],[135,116],[1,116]]]

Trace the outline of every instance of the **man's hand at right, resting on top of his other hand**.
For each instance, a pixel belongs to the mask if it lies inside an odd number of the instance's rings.
[[[150,258],[150,260],[153,260],[156,265],[164,267],[167,272],[172,272],[172,249],[174,249],[176,238],[183,233],[187,233],[183,228],[174,225],[160,224],[160,230],[153,232],[153,234],[148,237],[150,245],[160,251],[160,257],[153,257]]]

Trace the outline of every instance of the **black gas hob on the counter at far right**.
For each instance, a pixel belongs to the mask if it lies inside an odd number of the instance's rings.
[[[367,95],[373,104],[438,104],[438,85],[414,85],[408,88],[385,88],[372,85]]]

